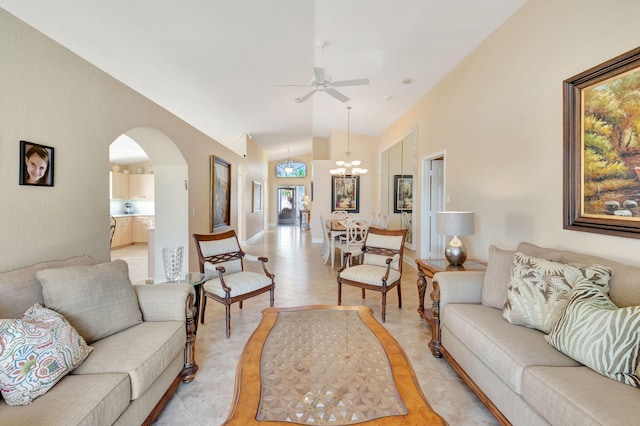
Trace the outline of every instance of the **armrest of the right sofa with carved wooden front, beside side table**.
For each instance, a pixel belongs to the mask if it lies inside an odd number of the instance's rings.
[[[448,271],[438,272],[433,276],[429,349],[436,358],[442,356],[443,350],[440,323],[444,307],[450,303],[480,303],[484,275],[484,271]]]

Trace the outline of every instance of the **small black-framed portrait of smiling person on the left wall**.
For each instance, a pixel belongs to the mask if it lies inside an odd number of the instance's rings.
[[[20,141],[20,185],[53,186],[53,153],[53,147]]]

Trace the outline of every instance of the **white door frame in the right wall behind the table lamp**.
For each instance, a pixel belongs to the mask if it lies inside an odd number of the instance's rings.
[[[440,246],[444,247],[445,236],[437,235],[434,232],[431,232],[431,223],[435,221],[436,211],[438,210],[432,207],[434,204],[431,202],[431,185],[434,181],[431,170],[432,163],[434,161],[442,161],[442,194],[438,204],[442,206],[442,209],[445,209],[447,193],[446,152],[446,149],[438,151],[431,155],[423,157],[421,160],[422,196],[420,198],[422,202],[420,208],[420,256],[427,259],[442,257],[439,253],[435,253],[436,250],[430,250],[430,247],[438,247],[438,241],[436,241],[436,239],[439,238],[441,240]]]

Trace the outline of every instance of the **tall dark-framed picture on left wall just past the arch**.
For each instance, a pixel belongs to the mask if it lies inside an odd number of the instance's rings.
[[[231,226],[231,164],[211,156],[210,232]]]

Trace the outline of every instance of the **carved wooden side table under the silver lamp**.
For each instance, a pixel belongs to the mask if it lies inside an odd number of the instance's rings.
[[[429,349],[433,356],[440,358],[440,289],[433,286],[430,297],[432,305],[430,308],[424,307],[424,296],[427,291],[427,278],[432,281],[433,276],[438,272],[445,271],[484,271],[487,265],[479,260],[468,259],[462,266],[454,266],[447,259],[416,259],[418,265],[418,314],[431,326],[431,341]],[[435,315],[434,315],[435,313]]]

